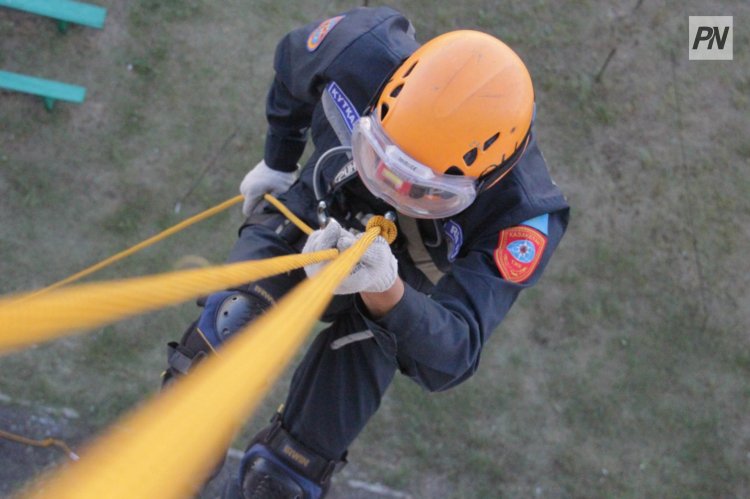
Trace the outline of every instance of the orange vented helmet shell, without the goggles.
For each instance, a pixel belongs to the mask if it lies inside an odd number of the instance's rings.
[[[453,31],[404,61],[375,113],[393,142],[420,163],[479,178],[523,146],[534,89],[510,47],[486,33]]]

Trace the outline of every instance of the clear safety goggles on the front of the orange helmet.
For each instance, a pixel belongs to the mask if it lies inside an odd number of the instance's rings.
[[[475,179],[435,173],[394,144],[372,116],[361,117],[354,126],[352,152],[370,192],[406,216],[447,218],[477,197]]]

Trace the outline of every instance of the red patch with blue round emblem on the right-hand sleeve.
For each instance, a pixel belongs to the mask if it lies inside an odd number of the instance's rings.
[[[546,245],[547,236],[526,225],[501,230],[494,252],[497,270],[510,282],[526,281],[539,265]]]

